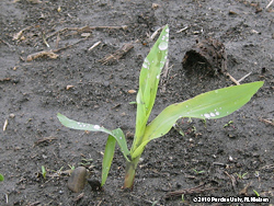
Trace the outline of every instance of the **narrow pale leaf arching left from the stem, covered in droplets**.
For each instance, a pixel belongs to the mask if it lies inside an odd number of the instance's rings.
[[[62,115],[60,113],[57,114],[57,117],[64,126],[69,127],[69,128],[79,129],[79,130],[103,131],[103,133],[106,133],[106,134],[113,136],[116,139],[124,157],[126,158],[127,161],[129,161],[128,160],[129,150],[127,149],[126,138],[125,138],[122,129],[118,128],[119,129],[118,133],[117,133],[117,129],[111,131],[111,130],[109,130],[104,127],[101,127],[99,125],[80,123],[80,122],[69,119],[68,117],[66,117],[65,115]]]

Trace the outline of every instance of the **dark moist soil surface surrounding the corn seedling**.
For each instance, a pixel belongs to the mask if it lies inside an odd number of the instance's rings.
[[[274,4],[265,9],[267,3],[1,0],[1,205],[273,205]],[[241,83],[263,80],[263,88],[227,117],[182,119],[178,127],[184,136],[171,129],[150,142],[133,191],[121,188],[125,161],[117,148],[102,191],[87,184],[81,193],[70,192],[69,175],[61,171],[85,165],[91,179],[100,180],[106,136],[68,129],[57,113],[134,133],[136,106],[129,102],[136,93],[129,90],[138,90],[142,60],[156,39],[149,37],[165,24],[170,69],[151,119],[169,104],[233,84],[224,75],[186,72],[182,59],[196,39],[220,41],[228,72],[236,79],[251,72]],[[100,61],[125,44],[134,48]],[[43,50],[47,53],[28,56]],[[129,136],[128,146],[132,141]],[[270,202],[193,201],[255,193]]]

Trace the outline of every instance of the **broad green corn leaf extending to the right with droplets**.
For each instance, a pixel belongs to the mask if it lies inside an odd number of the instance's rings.
[[[233,113],[248,103],[263,83],[263,81],[258,81],[218,89],[165,107],[146,127],[144,141],[132,154],[132,158],[138,157],[150,140],[165,135],[182,117],[220,118]]]

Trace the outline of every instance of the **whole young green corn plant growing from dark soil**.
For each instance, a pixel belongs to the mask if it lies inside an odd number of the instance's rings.
[[[148,124],[161,70],[168,58],[168,45],[169,27],[165,25],[141,67],[139,90],[136,98],[136,129],[130,150],[127,148],[125,135],[121,128],[109,130],[100,125],[80,123],[69,119],[62,114],[57,115],[60,123],[66,127],[103,131],[109,135],[103,157],[102,185],[106,181],[116,144],[126,161],[124,188],[132,188],[139,158],[149,141],[165,135],[176,121],[183,117],[210,119],[227,116],[249,102],[252,95],[263,85],[262,81],[258,81],[202,93],[187,101],[171,104]]]

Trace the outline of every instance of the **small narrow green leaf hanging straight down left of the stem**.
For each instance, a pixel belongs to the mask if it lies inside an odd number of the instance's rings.
[[[115,145],[116,145],[116,139],[110,135],[105,145],[105,150],[104,150],[101,186],[104,185],[107,179],[107,175],[112,165],[114,151],[115,151]]]

